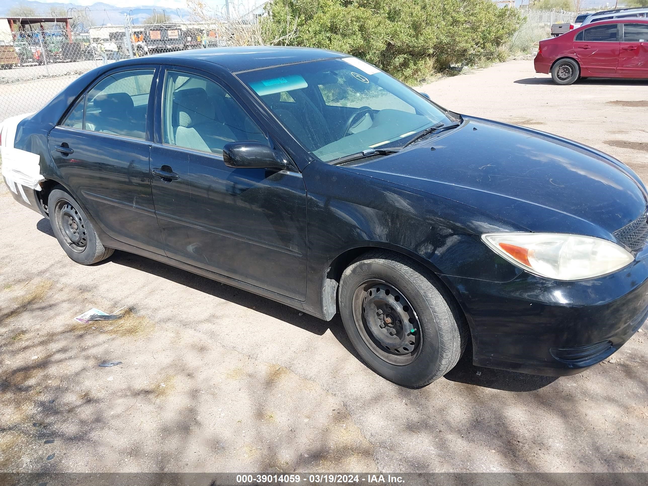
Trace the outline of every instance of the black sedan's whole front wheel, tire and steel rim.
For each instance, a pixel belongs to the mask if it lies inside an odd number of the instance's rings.
[[[401,386],[441,378],[465,350],[469,330],[454,299],[430,272],[399,255],[375,251],[351,263],[340,279],[339,303],[356,351]]]

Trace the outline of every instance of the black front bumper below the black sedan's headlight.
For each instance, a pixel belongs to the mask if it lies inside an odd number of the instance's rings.
[[[478,366],[574,375],[614,353],[648,317],[648,249],[619,272],[561,282],[445,277],[470,324]]]

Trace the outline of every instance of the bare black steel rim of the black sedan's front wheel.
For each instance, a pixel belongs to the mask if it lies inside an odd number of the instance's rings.
[[[353,295],[353,318],[362,340],[380,359],[404,366],[421,353],[419,318],[392,284],[377,279],[360,284]]]

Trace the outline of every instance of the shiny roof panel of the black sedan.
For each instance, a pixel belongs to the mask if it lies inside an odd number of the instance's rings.
[[[283,47],[283,46],[250,46],[250,47],[214,47],[211,49],[191,49],[189,51],[167,52],[146,56],[167,62],[178,62],[178,59],[198,60],[211,62],[224,67],[232,73],[251,71],[264,67],[295,64],[297,62],[319,61],[348,57],[341,52],[313,49],[311,47]],[[145,62],[145,60],[142,60]]]

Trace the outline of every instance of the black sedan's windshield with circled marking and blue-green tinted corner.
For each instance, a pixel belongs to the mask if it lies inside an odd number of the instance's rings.
[[[325,162],[371,148],[403,146],[426,128],[457,121],[357,58],[238,76],[310,154]]]

